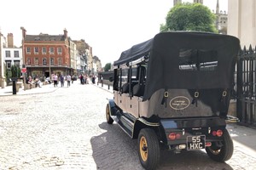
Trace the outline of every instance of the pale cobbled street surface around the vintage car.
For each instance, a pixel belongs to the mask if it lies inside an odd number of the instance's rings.
[[[106,122],[107,98],[113,98],[108,90],[79,82],[47,94],[1,96],[0,170],[143,169],[137,140]],[[256,169],[256,145],[243,140],[256,130],[228,130],[235,144],[230,161],[212,161],[203,150],[163,152],[158,169]]]

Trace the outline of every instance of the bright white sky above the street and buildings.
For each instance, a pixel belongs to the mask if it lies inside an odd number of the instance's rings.
[[[216,4],[217,0],[204,0],[211,10]],[[172,6],[173,0],[3,0],[0,31],[4,37],[13,33],[20,47],[20,26],[27,35],[60,35],[66,28],[68,37],[84,39],[104,66],[159,33]],[[219,8],[227,11],[228,0],[219,0]]]

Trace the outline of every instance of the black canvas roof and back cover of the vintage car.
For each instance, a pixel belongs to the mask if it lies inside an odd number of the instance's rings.
[[[161,88],[230,88],[239,50],[239,39],[228,35],[191,31],[162,32],[125,50],[114,65],[122,65],[149,54],[145,100]],[[186,53],[191,53],[189,58]],[[180,68],[181,65],[192,65],[188,62],[198,62],[200,59],[204,63],[211,63],[214,60],[212,56],[217,58],[218,68],[215,71]]]

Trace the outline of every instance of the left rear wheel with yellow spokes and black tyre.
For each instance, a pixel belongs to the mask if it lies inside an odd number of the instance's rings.
[[[160,161],[160,144],[153,129],[143,128],[138,136],[138,155],[145,169],[155,169]]]

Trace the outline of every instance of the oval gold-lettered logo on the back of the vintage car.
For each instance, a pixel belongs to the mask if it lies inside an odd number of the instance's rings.
[[[170,101],[170,106],[174,110],[183,110],[189,107],[190,100],[184,96],[177,96]]]

